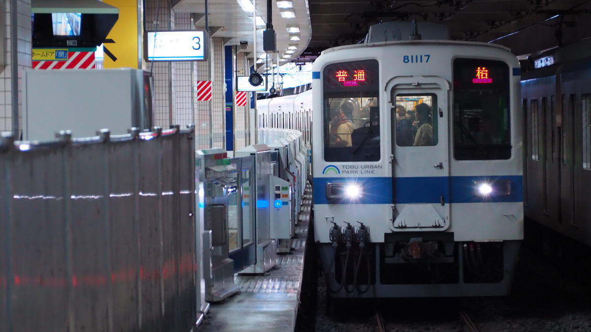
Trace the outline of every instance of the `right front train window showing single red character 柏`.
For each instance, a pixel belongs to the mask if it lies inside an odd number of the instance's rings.
[[[454,158],[511,158],[509,66],[503,61],[456,58],[453,100]]]

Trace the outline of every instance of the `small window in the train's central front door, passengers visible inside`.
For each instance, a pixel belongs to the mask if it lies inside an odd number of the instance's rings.
[[[437,95],[409,95],[407,93],[396,96],[396,144],[399,147],[420,147],[437,145]]]

